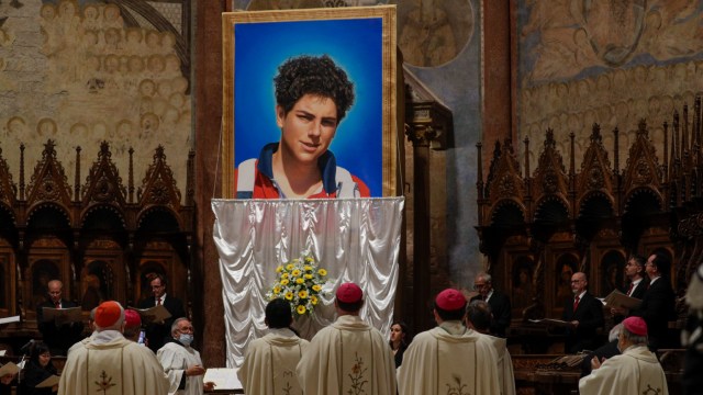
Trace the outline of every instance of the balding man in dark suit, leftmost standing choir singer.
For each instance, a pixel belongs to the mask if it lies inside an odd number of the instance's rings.
[[[64,284],[58,280],[47,283],[48,300],[36,306],[36,324],[42,332],[44,342],[48,346],[53,356],[66,356],[68,348],[81,339],[83,323],[60,323],[57,320],[44,321],[44,307],[71,308],[78,304],[63,298]]]

